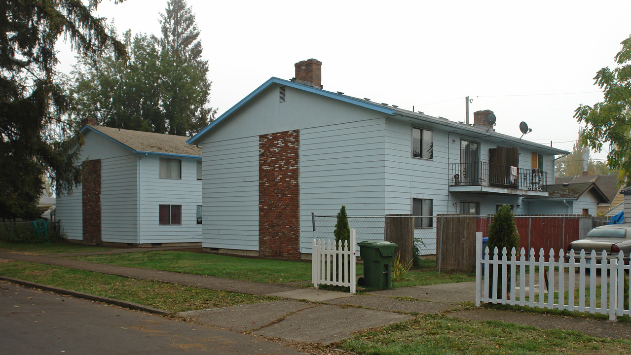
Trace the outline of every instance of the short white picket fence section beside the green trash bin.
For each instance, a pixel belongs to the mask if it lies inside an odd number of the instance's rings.
[[[355,230],[351,230],[350,243],[340,240],[337,247],[331,239],[314,238],[311,262],[314,288],[346,286],[355,293],[355,262]]]

